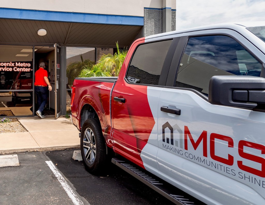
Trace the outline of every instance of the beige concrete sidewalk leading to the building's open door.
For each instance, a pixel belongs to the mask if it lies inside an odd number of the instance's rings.
[[[80,147],[79,131],[69,119],[17,118],[28,132],[1,133],[0,154]]]

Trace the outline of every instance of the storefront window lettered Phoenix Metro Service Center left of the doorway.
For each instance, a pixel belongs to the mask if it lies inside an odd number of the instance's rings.
[[[32,46],[0,45],[0,117],[32,115],[32,56]]]

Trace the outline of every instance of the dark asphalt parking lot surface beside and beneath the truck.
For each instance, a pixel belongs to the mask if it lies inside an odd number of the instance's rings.
[[[104,175],[91,175],[72,159],[73,151],[17,153],[19,167],[0,168],[0,204],[74,204],[49,161],[69,184],[76,204],[172,204],[112,163]]]

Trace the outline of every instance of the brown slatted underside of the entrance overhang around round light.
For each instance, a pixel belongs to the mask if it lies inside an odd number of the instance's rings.
[[[39,36],[39,29],[47,30]],[[142,26],[0,19],[0,43],[129,46]]]

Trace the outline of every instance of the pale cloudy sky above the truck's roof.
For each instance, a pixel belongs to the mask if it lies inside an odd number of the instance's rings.
[[[241,21],[265,21],[265,0],[176,0],[176,30]]]

